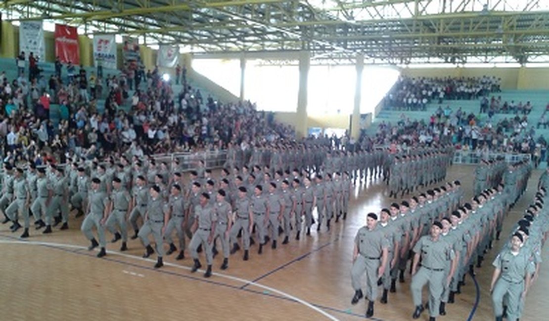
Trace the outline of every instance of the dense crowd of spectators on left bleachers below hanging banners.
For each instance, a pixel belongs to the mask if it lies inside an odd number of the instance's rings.
[[[144,78],[131,75],[131,81],[125,72],[103,79],[102,70],[88,74],[82,66],[62,65],[59,60],[47,82],[36,70],[27,81],[19,64],[18,72],[17,79],[0,73],[5,160],[41,164],[56,158],[64,163],[69,154],[88,159],[112,153],[141,156],[295,138],[293,128],[275,122],[271,113],[257,111],[249,101],[203,98],[188,84],[186,72],[177,72],[182,83],[177,93],[158,67]],[[131,88],[135,91],[129,96]],[[59,104],[60,121],[55,125],[49,117],[51,104]]]

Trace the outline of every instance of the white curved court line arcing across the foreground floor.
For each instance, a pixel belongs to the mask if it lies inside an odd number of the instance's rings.
[[[5,237],[5,236],[4,236]],[[47,247],[58,247],[58,248],[71,248],[71,249],[85,249],[87,250],[88,248],[87,247],[82,247],[81,245],[73,245],[73,244],[64,244],[64,243],[49,243],[49,242],[36,242],[36,241],[19,241],[19,240],[0,240],[0,244],[27,244],[27,245],[45,245]],[[155,260],[152,260],[152,259],[145,259],[144,257],[139,257],[139,256],[135,256],[135,255],[130,255],[130,254],[125,254],[125,253],[120,253],[118,251],[111,251],[109,250],[108,251],[108,254],[116,254],[116,255],[119,255],[119,256],[122,256],[122,257],[127,257],[128,259],[134,259],[134,260],[141,260],[141,261],[145,261],[145,262],[156,262]],[[182,270],[188,270],[190,271],[191,268],[190,267],[187,267],[187,266],[182,266],[182,265],[176,265],[176,264],[173,264],[173,263],[170,263],[170,262],[165,262],[164,265],[166,266],[171,266],[171,267],[176,267],[176,268],[181,268]],[[255,285],[257,286],[258,288],[262,288],[262,289],[265,289],[267,291],[271,291],[271,292],[274,292],[274,293],[277,293],[279,295],[282,295],[282,296],[285,296],[287,297],[288,299],[291,299],[291,300],[294,300],[296,302],[299,302],[301,303],[302,305],[308,307],[308,308],[311,308],[313,310],[315,310],[316,312],[322,314],[324,317],[330,319],[330,320],[334,320],[334,321],[338,321],[339,319],[332,316],[332,314],[329,314],[327,312],[325,312],[324,310],[320,309],[320,308],[317,308],[313,305],[311,305],[311,303],[307,302],[307,301],[304,301],[304,300],[301,300],[299,299],[298,297],[295,297],[293,295],[290,295],[290,294],[287,294],[283,291],[280,291],[280,290],[277,290],[277,289],[274,289],[274,288],[271,288],[270,286],[266,286],[266,285],[262,285],[262,284],[259,284],[259,283],[255,283],[251,280],[246,280],[246,279],[242,279],[242,278],[238,278],[238,277],[233,277],[233,276],[229,276],[228,274],[221,274],[221,273],[217,273],[217,272],[214,272],[212,273],[212,275],[214,276],[218,276],[218,277],[222,277],[222,278],[226,278],[226,279],[229,279],[229,280],[234,280],[234,281],[237,281],[237,282],[241,282],[241,283],[244,283],[244,284],[250,284],[250,285]]]

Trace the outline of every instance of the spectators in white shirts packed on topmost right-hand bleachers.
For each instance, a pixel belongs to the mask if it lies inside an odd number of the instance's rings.
[[[444,100],[472,100],[500,89],[495,77],[399,77],[384,98],[384,107],[393,110],[425,110],[427,104]]]

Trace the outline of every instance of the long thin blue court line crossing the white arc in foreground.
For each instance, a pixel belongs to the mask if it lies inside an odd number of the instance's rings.
[[[2,232],[0,232],[0,233],[2,233]],[[9,238],[9,239],[14,239],[14,240],[21,241],[21,239],[18,238],[18,237],[13,237],[13,236],[9,236],[9,235],[0,235],[0,236],[5,237],[5,238]],[[333,242],[335,242],[335,240],[330,242],[330,243],[333,243]],[[323,247],[327,246],[328,244],[324,244]],[[96,257],[96,255],[94,255],[94,254],[79,252],[81,249],[77,249],[77,250],[64,249],[64,248],[54,247],[52,245],[47,245],[47,244],[40,244],[40,246],[45,247],[45,248],[49,248],[49,249],[64,251],[66,253],[72,253],[72,254],[83,255],[83,256],[88,256],[88,257]],[[320,248],[318,248],[317,250],[319,250],[319,249]],[[264,296],[273,297],[275,299],[285,300],[285,301],[289,301],[289,302],[293,302],[293,303],[299,303],[299,302],[297,302],[293,299],[290,299],[289,297],[280,296],[280,295],[276,295],[276,294],[265,293],[265,292],[257,291],[257,290],[242,289],[240,286],[226,284],[226,283],[222,283],[222,282],[216,282],[216,281],[212,281],[212,280],[205,279],[205,278],[187,276],[185,274],[180,274],[180,273],[176,273],[176,272],[156,269],[156,268],[153,268],[153,267],[148,267],[148,266],[143,266],[143,265],[138,265],[136,263],[130,263],[130,262],[125,262],[125,261],[121,261],[121,260],[117,260],[117,259],[111,259],[110,257],[102,257],[101,259],[102,260],[107,260],[107,261],[110,261],[110,262],[114,262],[114,263],[119,263],[121,265],[127,265],[127,266],[131,266],[131,267],[142,268],[143,270],[147,270],[147,271],[150,271],[150,272],[163,273],[163,274],[167,274],[167,275],[170,275],[170,276],[176,276],[176,277],[191,279],[191,280],[204,282],[204,283],[209,283],[209,284],[213,284],[213,285],[225,286],[226,288],[230,288],[230,289],[234,289],[234,290],[242,290],[242,291],[245,291],[245,292],[248,292],[248,293],[264,295]],[[338,308],[322,306],[322,305],[318,305],[318,304],[312,303],[312,302],[309,302],[309,303],[311,305],[317,307],[317,308],[326,309],[326,310],[333,311],[333,312],[338,312],[338,313],[341,313],[341,314],[345,314],[346,316],[354,316],[354,317],[357,317],[357,318],[374,320],[374,321],[384,321],[383,319],[378,319],[378,318],[366,318],[366,316],[363,315],[363,314],[357,314],[357,313],[354,313],[354,312],[348,312],[346,310],[342,310],[342,309],[338,309]]]

